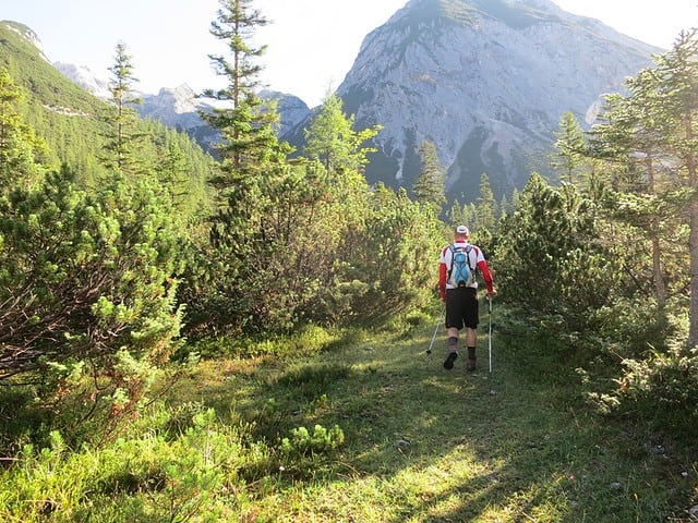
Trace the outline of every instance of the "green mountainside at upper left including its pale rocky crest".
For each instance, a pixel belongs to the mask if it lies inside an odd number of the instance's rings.
[[[12,83],[25,95],[16,105],[22,122],[48,146],[43,163],[52,169],[65,163],[83,187],[94,187],[108,172],[99,158],[108,136],[113,134],[113,126],[106,120],[112,106],[88,90],[104,94],[107,84],[96,81],[85,68],[50,63],[37,35],[12,21],[0,22],[0,68],[8,70]],[[191,209],[205,205],[210,156],[188,134],[161,122],[140,120],[134,126],[137,134],[149,138],[140,150],[145,161],[155,166],[170,151],[181,155],[186,171],[186,180],[180,180],[186,187],[182,203]]]

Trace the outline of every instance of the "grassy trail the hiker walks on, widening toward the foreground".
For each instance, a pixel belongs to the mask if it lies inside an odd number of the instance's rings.
[[[267,362],[229,384],[245,391],[241,413],[245,402],[257,417],[275,405],[266,438],[315,424],[346,435],[329,457],[285,463],[248,521],[691,521],[696,463],[594,413],[574,372],[495,332],[490,375],[486,323],[479,369],[466,373],[461,354],[446,370],[443,332],[425,353],[432,333],[433,325],[286,367]]]

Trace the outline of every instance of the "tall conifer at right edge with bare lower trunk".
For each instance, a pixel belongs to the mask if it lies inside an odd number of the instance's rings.
[[[667,289],[664,246],[681,243],[683,221],[689,229],[689,345],[698,342],[698,187],[696,136],[698,121],[698,41],[684,33],[674,48],[655,58],[657,65],[626,82],[629,96],[607,98],[605,123],[592,130],[592,150],[615,165],[611,180],[619,194],[622,218],[649,238],[652,281],[658,305]],[[678,220],[678,221],[677,221]],[[649,265],[648,264],[648,265]],[[682,264],[678,264],[681,266]],[[641,269],[640,269],[641,270]],[[675,278],[676,279],[676,278]],[[671,283],[671,282],[670,282]]]

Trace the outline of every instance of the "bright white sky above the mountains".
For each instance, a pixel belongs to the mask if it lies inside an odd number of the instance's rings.
[[[698,0],[553,0],[647,44],[671,48],[683,29],[698,26]],[[267,19],[255,42],[268,88],[321,104],[341,84],[363,38],[407,0],[254,0]],[[189,85],[219,88],[208,54],[225,54],[209,33],[218,0],[0,0],[0,20],[32,28],[52,62],[89,68],[108,77],[117,44],[131,57],[136,89]]]

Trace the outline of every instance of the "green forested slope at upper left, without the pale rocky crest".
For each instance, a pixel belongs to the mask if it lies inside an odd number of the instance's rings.
[[[25,31],[28,28],[21,24],[0,23],[3,42],[0,46],[0,69],[7,69],[21,92],[20,99],[12,102],[11,112],[19,114],[24,129],[24,144],[31,146],[37,163],[48,169],[68,165],[75,172],[79,186],[89,192],[109,177],[98,158],[105,157],[107,136],[117,134],[105,121],[107,113],[113,115],[115,107],[58,72],[34,45],[21,36],[20,33]],[[210,156],[183,132],[168,130],[154,121],[136,119],[132,123],[130,133],[140,142],[137,158],[133,158],[139,169],[157,170],[165,161],[163,147],[167,149],[170,144],[177,144],[186,157],[186,182],[179,186],[179,192],[185,191],[186,196],[179,198],[185,202],[180,210],[183,211],[183,221],[193,221],[208,206],[204,185],[210,177]],[[23,154],[22,157],[26,160],[31,156]],[[163,173],[163,169],[159,172]],[[166,178],[164,173],[163,178]],[[40,181],[40,177],[33,181],[37,180]]]

